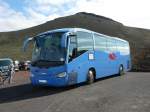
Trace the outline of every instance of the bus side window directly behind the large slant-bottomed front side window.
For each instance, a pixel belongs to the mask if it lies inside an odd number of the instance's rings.
[[[95,49],[100,51],[106,50],[106,38],[97,34],[94,34],[94,38],[95,38]]]

